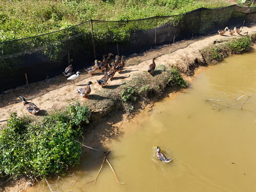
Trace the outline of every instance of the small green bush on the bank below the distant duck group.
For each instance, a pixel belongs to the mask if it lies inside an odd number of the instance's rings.
[[[251,47],[250,38],[241,37],[241,38],[235,39],[234,41],[228,42],[226,46],[234,53],[242,53],[250,49]]]

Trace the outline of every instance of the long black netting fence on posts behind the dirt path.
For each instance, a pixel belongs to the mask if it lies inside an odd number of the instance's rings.
[[[0,91],[26,84],[25,73],[29,82],[58,75],[67,67],[68,58],[73,59],[76,71],[109,52],[130,55],[254,21],[256,7],[232,5],[132,21],[91,20],[54,33],[1,42]]]

